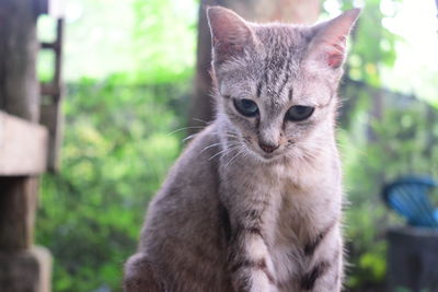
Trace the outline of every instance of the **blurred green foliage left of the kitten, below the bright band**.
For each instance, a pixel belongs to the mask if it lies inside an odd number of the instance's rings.
[[[55,291],[120,287],[148,200],[181,150],[172,100],[182,84],[68,86],[62,170],[43,178],[37,242],[55,256]]]

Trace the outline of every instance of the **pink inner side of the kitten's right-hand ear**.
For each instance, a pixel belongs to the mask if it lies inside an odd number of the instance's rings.
[[[332,69],[342,67],[346,55],[347,37],[360,14],[360,9],[345,11],[339,16],[313,27],[314,37],[309,45],[308,59]]]

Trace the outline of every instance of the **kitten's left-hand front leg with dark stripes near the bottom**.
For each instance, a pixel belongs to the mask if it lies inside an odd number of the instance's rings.
[[[242,166],[242,165],[241,165]],[[228,272],[235,292],[278,292],[270,256],[273,226],[280,196],[265,173],[256,175],[252,164],[223,168],[222,205],[228,212]],[[252,175],[242,175],[252,174]],[[257,184],[254,184],[257,182]],[[277,192],[276,192],[277,191]]]

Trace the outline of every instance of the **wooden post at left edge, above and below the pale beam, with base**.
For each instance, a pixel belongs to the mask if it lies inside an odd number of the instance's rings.
[[[39,119],[36,17],[34,0],[0,1],[0,109],[34,124]],[[3,137],[0,145],[9,142]],[[32,247],[38,177],[0,176],[0,290],[47,292],[50,257]]]

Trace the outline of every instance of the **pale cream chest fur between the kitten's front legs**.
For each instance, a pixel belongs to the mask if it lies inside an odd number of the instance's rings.
[[[337,212],[339,194],[326,180],[316,176],[299,177],[279,168],[272,194],[275,220],[266,225],[270,237],[269,254],[279,282],[290,283],[309,264],[303,248],[309,238],[323,229]]]

